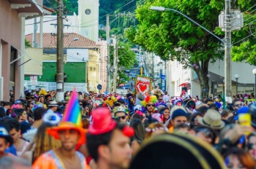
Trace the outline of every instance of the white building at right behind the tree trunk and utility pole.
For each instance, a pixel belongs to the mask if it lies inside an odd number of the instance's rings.
[[[191,90],[188,90],[189,95],[195,97],[200,96],[200,84],[197,74],[192,68],[184,69],[183,65],[178,63],[177,60],[167,61],[166,63],[167,74],[167,92],[172,96],[181,94],[181,87],[178,87],[184,82],[191,84]],[[209,94],[218,95],[223,93],[224,87],[224,60],[217,60],[215,63],[209,63],[208,76],[209,76]],[[232,62],[232,95],[236,95],[236,78],[235,74],[239,75],[238,78],[238,94],[252,93],[254,91],[255,75],[252,70],[255,66],[250,66],[248,63]]]

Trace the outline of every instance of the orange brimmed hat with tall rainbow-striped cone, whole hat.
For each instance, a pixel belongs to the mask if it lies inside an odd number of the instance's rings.
[[[80,133],[78,144],[84,144],[86,142],[86,130],[84,130],[82,126],[82,116],[76,90],[74,90],[59,126],[48,128],[47,133],[54,138],[59,139],[59,130],[74,129]]]

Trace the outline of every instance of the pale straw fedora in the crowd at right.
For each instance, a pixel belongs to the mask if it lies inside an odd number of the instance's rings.
[[[222,117],[218,111],[214,109],[208,109],[203,118],[198,119],[200,125],[206,125],[214,129],[222,129],[225,126],[225,122],[222,122]]]

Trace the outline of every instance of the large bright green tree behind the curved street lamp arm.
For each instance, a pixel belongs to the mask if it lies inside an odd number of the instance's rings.
[[[224,9],[221,0],[149,0],[138,5],[139,24],[125,31],[132,42],[154,52],[163,60],[178,60],[184,68],[192,68],[199,79],[201,98],[208,98],[208,63],[223,59],[222,42],[176,12],[151,11],[152,6],[176,9],[192,18],[209,31],[223,35],[218,27],[219,12]],[[241,2],[238,0],[238,3]],[[217,34],[216,33],[216,34]],[[218,35],[219,35],[218,34]],[[223,37],[223,36],[222,36]]]

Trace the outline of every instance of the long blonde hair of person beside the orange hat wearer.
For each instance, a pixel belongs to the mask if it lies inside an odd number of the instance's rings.
[[[61,146],[61,141],[56,140],[53,136],[46,133],[48,127],[53,127],[53,125],[48,122],[42,123],[37,129],[37,134],[34,135],[34,161],[37,160],[41,154],[48,152],[50,149],[56,149]]]

